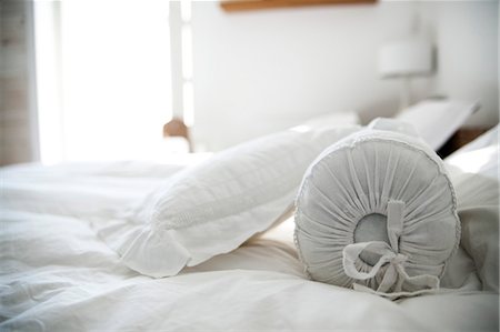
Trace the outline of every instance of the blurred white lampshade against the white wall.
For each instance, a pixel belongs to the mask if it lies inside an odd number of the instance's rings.
[[[422,40],[386,44],[379,51],[382,78],[429,74],[433,69],[432,62],[432,46]]]

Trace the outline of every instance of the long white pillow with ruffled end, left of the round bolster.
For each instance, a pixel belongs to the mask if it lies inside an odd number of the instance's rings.
[[[174,275],[269,228],[292,204],[311,161],[356,130],[289,130],[219,152],[160,185],[100,235],[129,268]]]

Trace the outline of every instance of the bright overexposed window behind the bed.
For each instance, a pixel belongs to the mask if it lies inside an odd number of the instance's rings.
[[[161,153],[169,1],[40,1],[34,13],[42,162]]]

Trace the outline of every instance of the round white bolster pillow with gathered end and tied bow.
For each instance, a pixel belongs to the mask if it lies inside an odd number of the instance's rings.
[[[439,288],[460,241],[456,195],[422,141],[366,129],[331,145],[304,174],[296,244],[313,280],[381,295]]]

